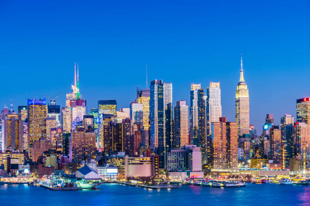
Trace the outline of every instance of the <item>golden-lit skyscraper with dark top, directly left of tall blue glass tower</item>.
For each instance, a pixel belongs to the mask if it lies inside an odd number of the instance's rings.
[[[137,89],[137,101],[143,105],[143,125],[141,128],[141,142],[148,145],[148,131],[149,131],[149,89]]]

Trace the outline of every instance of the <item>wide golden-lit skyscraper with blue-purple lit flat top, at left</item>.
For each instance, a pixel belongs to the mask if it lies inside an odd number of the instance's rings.
[[[32,143],[40,138],[46,139],[46,99],[28,99],[28,152],[32,158]],[[36,160],[35,160],[36,161]]]

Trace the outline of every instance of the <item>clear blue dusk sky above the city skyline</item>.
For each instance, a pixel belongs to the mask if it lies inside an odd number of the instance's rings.
[[[296,117],[310,96],[309,1],[0,1],[0,107],[28,97],[64,106],[80,65],[88,110],[99,99],[135,100],[136,86],[173,83],[173,102],[189,103],[190,83],[220,81],[222,114],[235,121],[240,54],[258,133]]]

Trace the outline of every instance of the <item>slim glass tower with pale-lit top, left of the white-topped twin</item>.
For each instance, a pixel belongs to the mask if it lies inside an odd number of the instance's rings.
[[[206,164],[206,106],[204,89],[200,84],[190,85],[190,142],[202,150],[202,162]]]

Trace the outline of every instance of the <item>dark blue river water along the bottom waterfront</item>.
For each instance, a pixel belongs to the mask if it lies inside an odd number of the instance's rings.
[[[103,184],[98,190],[51,191],[28,185],[0,185],[0,205],[310,205],[310,186],[247,184],[240,188],[180,185],[152,190]]]

